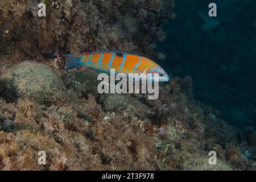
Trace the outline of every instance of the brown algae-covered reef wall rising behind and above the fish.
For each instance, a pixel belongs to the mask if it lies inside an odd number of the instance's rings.
[[[47,1],[46,17],[38,17],[40,2],[0,2],[0,52],[11,63],[51,57],[56,49],[154,56],[165,35],[162,23],[174,16],[172,0]]]

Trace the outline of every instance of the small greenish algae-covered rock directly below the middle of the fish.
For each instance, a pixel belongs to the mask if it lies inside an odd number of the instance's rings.
[[[129,104],[133,106],[141,105],[138,100],[129,94],[103,94],[99,101],[104,110],[114,112],[126,109]]]

